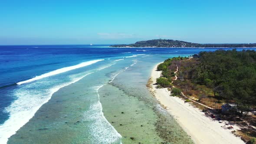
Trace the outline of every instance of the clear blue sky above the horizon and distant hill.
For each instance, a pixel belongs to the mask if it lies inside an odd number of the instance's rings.
[[[256,43],[256,0],[1,0],[0,45]]]

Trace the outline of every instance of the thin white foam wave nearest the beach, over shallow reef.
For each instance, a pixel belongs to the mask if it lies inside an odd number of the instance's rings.
[[[106,85],[106,84],[105,84]],[[121,134],[107,121],[103,112],[102,104],[99,101],[98,90],[102,88],[101,85],[97,87],[98,101],[91,105],[88,111],[84,113],[84,121],[91,121],[90,130],[92,134],[92,143],[94,144],[121,144]]]

